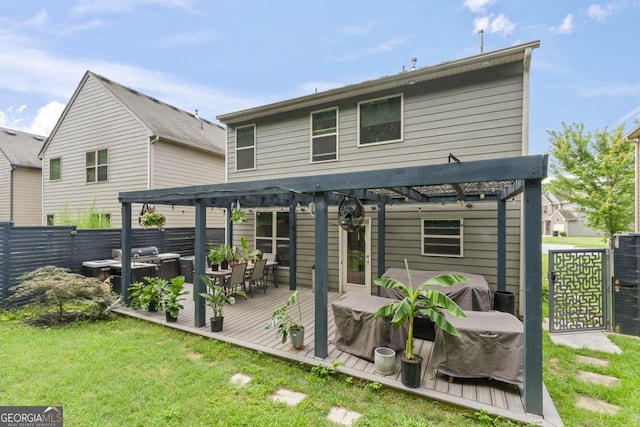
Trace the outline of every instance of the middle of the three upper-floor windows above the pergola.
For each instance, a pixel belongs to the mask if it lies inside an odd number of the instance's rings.
[[[338,159],[338,109],[311,113],[311,162]]]

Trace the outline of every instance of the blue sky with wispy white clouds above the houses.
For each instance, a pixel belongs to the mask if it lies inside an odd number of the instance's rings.
[[[530,153],[640,118],[640,0],[0,0],[0,126],[48,135],[86,70],[202,117],[540,40]],[[635,29],[635,30],[634,30]]]

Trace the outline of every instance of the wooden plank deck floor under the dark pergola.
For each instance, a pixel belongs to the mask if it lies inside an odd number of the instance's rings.
[[[335,323],[331,311],[331,302],[342,294],[329,292],[328,326],[329,326],[329,354],[321,359],[314,356],[314,294],[309,288],[300,288],[300,302],[302,305],[303,323],[305,325],[304,350],[290,350],[290,345],[281,344],[276,339],[274,330],[266,330],[265,325],[271,319],[271,313],[277,307],[284,304],[291,291],[287,286],[274,288],[269,286],[267,293],[262,289],[254,289],[253,298],[249,300],[239,299],[235,305],[226,307],[224,311],[224,329],[222,332],[211,332],[209,317],[211,309],[207,307],[207,324],[204,327],[194,326],[194,304],[192,299],[192,285],[186,284],[189,296],[184,302],[185,309],[180,311],[177,323],[167,323],[164,313],[150,313],[146,310],[133,310],[122,308],[117,312],[144,319],[150,322],[163,324],[167,327],[183,330],[185,332],[210,337],[220,341],[229,342],[238,346],[258,350],[296,362],[309,365],[331,366],[334,360],[344,363],[338,370],[344,374],[369,381],[378,381],[388,387],[418,394],[431,399],[448,402],[474,410],[484,409],[495,415],[509,419],[539,424],[562,425],[546,389],[544,390],[545,417],[525,413],[522,397],[522,388],[500,381],[488,379],[460,379],[455,378],[450,383],[448,377],[433,375],[433,369],[429,367],[431,353],[430,341],[415,340],[416,352],[423,359],[422,387],[412,389],[402,385],[400,381],[400,362],[396,361],[396,374],[383,376],[374,371],[374,365],[365,359],[343,352],[333,344]]]

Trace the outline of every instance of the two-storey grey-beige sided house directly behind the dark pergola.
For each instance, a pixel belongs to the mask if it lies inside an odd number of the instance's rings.
[[[529,67],[538,46],[513,46],[218,116],[227,125],[227,182],[526,155]],[[522,280],[520,206],[515,198],[507,207],[507,290],[516,294]],[[350,233],[331,209],[329,289],[375,292],[376,207],[366,207],[362,226]],[[295,282],[311,283],[313,205],[297,211]],[[286,280],[288,209],[257,209],[247,217],[247,224],[234,225],[234,242],[244,236],[276,252]],[[406,258],[415,269],[482,274],[496,289],[496,223],[495,203],[390,205],[386,267],[403,267]]]

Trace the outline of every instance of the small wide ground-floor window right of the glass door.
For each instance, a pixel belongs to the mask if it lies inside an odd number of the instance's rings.
[[[423,219],[422,255],[462,257],[462,219]]]

